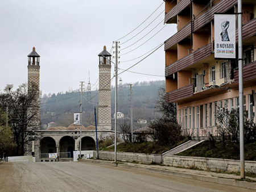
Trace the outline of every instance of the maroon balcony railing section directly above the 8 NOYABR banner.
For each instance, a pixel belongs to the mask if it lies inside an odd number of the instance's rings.
[[[211,20],[214,19],[214,12],[226,12],[234,5],[237,4],[237,0],[222,0],[218,2],[211,9],[205,11],[198,18],[193,19],[193,32],[199,30],[201,27],[208,24]]]

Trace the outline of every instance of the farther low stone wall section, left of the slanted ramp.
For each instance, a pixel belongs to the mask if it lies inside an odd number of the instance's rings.
[[[114,161],[114,152],[113,151],[99,151],[99,158],[102,160],[111,160]],[[93,157],[97,157],[97,151],[93,152]],[[161,155],[148,155],[144,153],[127,153],[127,152],[117,152],[117,161],[123,162],[143,162],[144,164],[150,164],[151,162],[160,163]]]

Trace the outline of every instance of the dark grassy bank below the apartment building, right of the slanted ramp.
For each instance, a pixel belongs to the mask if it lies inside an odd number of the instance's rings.
[[[178,153],[177,155],[240,160],[240,148],[232,142],[226,142],[224,147],[222,143],[217,141],[215,145],[210,141],[205,141],[187,151]],[[256,161],[256,142],[245,145],[245,160]]]

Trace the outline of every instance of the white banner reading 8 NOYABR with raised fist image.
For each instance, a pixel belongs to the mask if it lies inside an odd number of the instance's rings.
[[[236,15],[214,14],[214,57],[236,59]]]

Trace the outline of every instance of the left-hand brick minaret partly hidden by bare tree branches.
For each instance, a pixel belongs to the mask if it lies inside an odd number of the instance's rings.
[[[34,98],[34,102],[31,103],[28,108],[28,118],[32,116],[32,120],[28,123],[28,128],[36,130],[40,127],[40,55],[36,53],[35,47],[28,57],[28,94]]]

